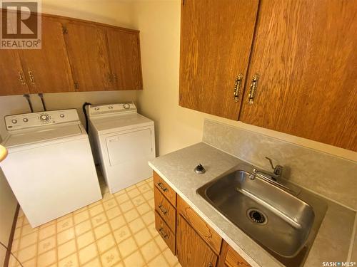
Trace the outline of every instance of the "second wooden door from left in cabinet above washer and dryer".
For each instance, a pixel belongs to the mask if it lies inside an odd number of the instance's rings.
[[[41,49],[19,51],[30,93],[74,91],[61,21],[42,16],[41,23]]]

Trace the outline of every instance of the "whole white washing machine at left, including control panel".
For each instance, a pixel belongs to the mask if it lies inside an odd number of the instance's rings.
[[[76,110],[5,117],[0,163],[32,227],[101,199],[86,130]]]

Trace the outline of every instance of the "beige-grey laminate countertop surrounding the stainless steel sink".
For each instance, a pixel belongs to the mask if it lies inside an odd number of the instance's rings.
[[[149,165],[251,266],[282,266],[241,229],[225,219],[208,204],[196,189],[242,162],[238,157],[200,142],[176,152],[157,157]],[[205,174],[193,169],[201,163]],[[328,201],[316,239],[303,266],[323,266],[323,262],[356,262],[356,212]],[[354,246],[353,246],[353,243]]]

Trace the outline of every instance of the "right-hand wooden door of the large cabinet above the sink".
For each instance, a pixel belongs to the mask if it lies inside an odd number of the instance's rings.
[[[240,120],[356,151],[357,1],[262,0],[259,12],[248,78],[260,77]]]

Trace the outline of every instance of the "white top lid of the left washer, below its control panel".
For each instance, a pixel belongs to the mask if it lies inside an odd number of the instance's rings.
[[[81,127],[77,123],[73,125],[61,125],[55,127],[44,126],[36,128],[36,130],[14,132],[6,138],[3,145],[7,148],[21,145],[31,145],[34,143],[56,140],[74,135],[82,135],[82,133]]]

